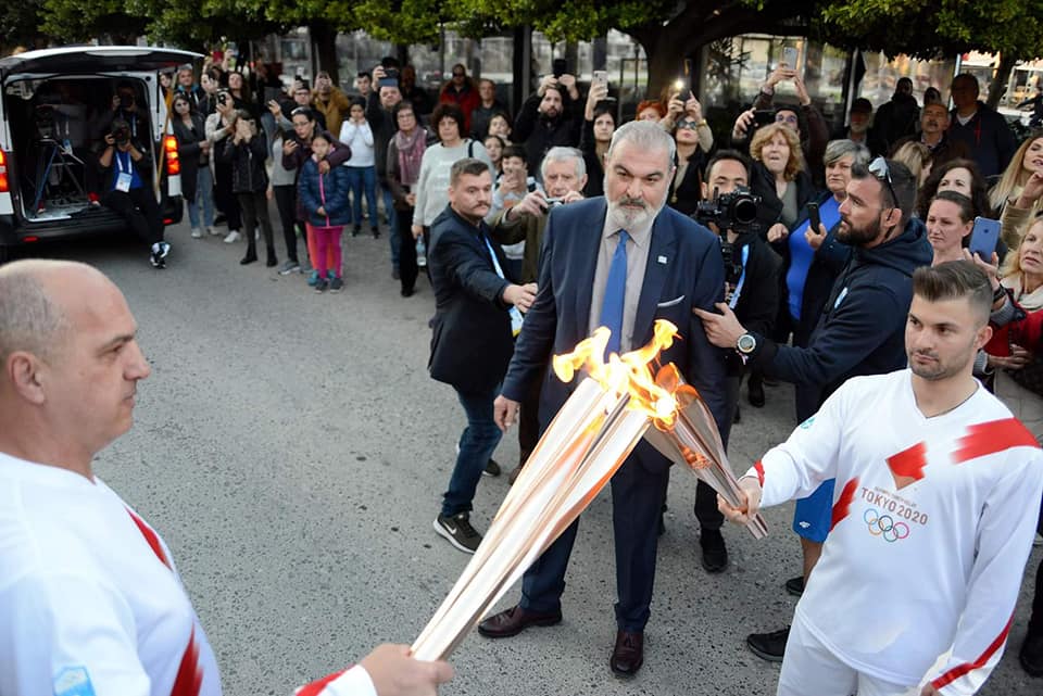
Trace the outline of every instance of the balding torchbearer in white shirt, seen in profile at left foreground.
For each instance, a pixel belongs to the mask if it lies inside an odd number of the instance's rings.
[[[151,369],[120,290],[90,266],[0,268],[0,694],[221,696],[171,549],[95,476]],[[310,696],[432,695],[452,676],[406,646]]]

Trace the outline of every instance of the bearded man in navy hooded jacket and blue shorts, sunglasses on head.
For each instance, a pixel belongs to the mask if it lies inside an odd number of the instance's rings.
[[[714,345],[738,351],[765,375],[793,382],[820,405],[852,377],[882,375],[905,366],[905,316],[913,299],[913,271],[931,263],[923,224],[913,217],[916,181],[900,163],[877,157],[868,167],[853,165],[847,198],[840,205],[837,239],[854,249],[833,283],[807,347],[776,343],[747,331],[728,305],[721,314],[695,309]],[[825,233],[825,229],[820,229]],[[804,420],[812,413],[797,413]],[[797,502],[793,529],[804,552],[804,582],[821,554],[835,498],[832,480]],[[780,661],[789,629],[754,633],[746,645],[757,656]]]

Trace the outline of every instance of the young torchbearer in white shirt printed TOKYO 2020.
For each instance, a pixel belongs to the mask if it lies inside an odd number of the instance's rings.
[[[841,387],[740,479],[741,509],[719,501],[744,523],[827,480],[842,491],[779,696],[969,696],[1003,655],[1043,455],[971,374],[992,336],[988,276],[947,262],[918,269],[913,292],[909,367]]]

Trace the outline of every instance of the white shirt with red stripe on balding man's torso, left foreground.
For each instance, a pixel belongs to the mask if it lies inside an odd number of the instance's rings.
[[[0,696],[219,696],[159,535],[100,479],[0,454]]]

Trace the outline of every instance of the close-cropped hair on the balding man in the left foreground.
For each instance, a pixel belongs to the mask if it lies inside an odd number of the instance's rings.
[[[39,273],[58,265],[20,261],[0,268],[0,364],[17,351],[46,359],[70,329],[68,318],[48,294]]]

